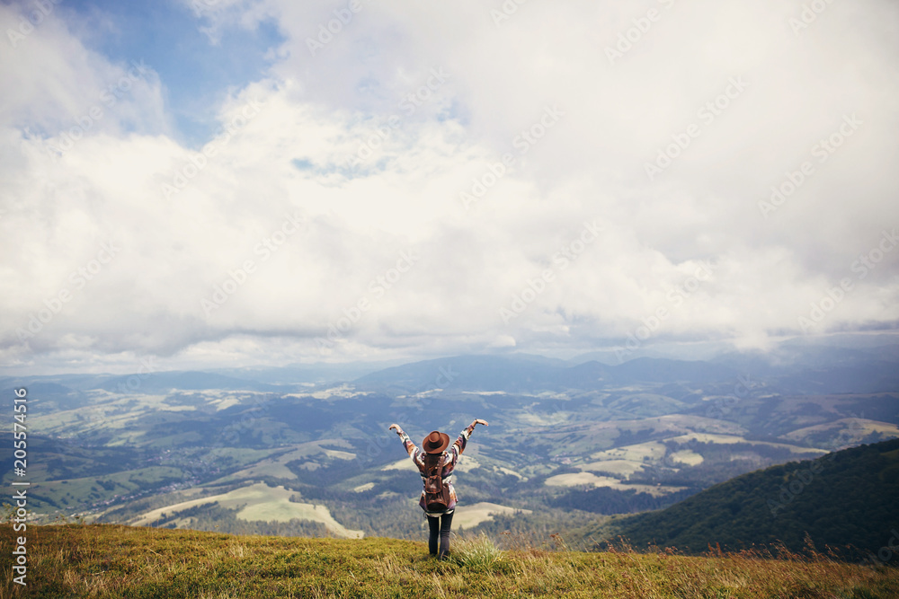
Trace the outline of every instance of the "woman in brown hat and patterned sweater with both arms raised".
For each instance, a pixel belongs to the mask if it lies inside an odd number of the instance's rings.
[[[452,472],[456,468],[458,456],[465,451],[468,437],[478,424],[488,426],[484,420],[476,418],[458,434],[449,451],[447,450],[449,435],[446,433],[432,431],[430,435],[424,437],[420,449],[398,424],[389,427],[389,430],[396,428],[396,434],[403,441],[405,451],[409,453],[409,457],[422,474],[424,489],[418,505],[428,518],[428,527],[431,531],[428,549],[433,556],[437,555],[437,538],[440,536],[441,560],[447,559],[449,555],[449,527],[452,525],[452,514],[456,509],[456,489],[452,486]]]

